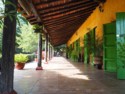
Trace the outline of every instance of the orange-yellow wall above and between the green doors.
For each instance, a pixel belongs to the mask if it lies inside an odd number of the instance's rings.
[[[81,27],[69,39],[67,45],[69,46],[77,39],[83,40],[84,35],[89,32],[88,29],[96,28],[96,36],[102,37],[103,24],[110,23],[116,20],[116,12],[125,12],[125,0],[106,0],[104,4],[104,11],[100,12],[97,7],[88,19],[81,25]],[[83,46],[82,42],[80,43]]]

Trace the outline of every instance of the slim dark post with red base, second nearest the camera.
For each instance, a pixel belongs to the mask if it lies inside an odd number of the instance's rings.
[[[36,70],[43,70],[42,68],[42,34],[39,34],[39,41],[38,41],[38,64]]]

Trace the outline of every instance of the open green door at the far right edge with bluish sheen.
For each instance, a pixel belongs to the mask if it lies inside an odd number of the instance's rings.
[[[125,79],[125,13],[116,14],[117,78]]]

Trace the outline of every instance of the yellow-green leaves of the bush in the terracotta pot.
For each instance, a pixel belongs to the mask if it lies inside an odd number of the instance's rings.
[[[28,61],[28,56],[26,54],[16,54],[14,61],[15,63],[26,63]]]

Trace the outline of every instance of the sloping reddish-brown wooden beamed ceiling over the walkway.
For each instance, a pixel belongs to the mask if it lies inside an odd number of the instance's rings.
[[[98,2],[97,2],[98,1]],[[31,24],[45,26],[50,43],[66,43],[103,0],[18,0],[18,10]]]

